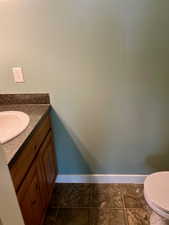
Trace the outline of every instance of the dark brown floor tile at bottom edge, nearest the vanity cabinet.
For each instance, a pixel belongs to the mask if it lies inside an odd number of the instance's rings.
[[[54,210],[46,218],[44,225],[89,225],[89,209],[66,208],[58,209],[57,215]]]

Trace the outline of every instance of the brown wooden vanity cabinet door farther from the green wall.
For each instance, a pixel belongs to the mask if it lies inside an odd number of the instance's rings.
[[[43,206],[36,162],[30,169],[17,196],[25,224],[39,225],[43,216]]]

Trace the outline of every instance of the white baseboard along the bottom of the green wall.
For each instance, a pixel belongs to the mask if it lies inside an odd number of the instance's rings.
[[[56,183],[135,183],[143,184],[147,175],[141,174],[92,174],[58,175]]]

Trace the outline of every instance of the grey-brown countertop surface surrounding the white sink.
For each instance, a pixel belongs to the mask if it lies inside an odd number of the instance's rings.
[[[22,149],[29,140],[33,130],[39,124],[41,119],[49,112],[50,104],[8,104],[0,105],[0,111],[17,110],[27,113],[30,116],[28,127],[17,137],[2,144],[5,153],[5,161],[9,165],[14,160],[16,154]]]

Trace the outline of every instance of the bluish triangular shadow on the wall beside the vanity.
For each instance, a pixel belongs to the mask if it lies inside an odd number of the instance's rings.
[[[96,166],[96,161],[78,138],[68,131],[53,108],[51,118],[59,174],[92,174],[89,164],[92,161],[92,165]]]

